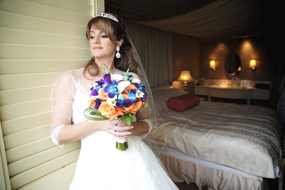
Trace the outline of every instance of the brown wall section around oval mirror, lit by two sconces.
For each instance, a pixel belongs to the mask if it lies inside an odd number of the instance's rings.
[[[205,79],[229,79],[225,73],[225,60],[234,52],[241,60],[241,80],[271,81],[272,61],[268,53],[265,37],[238,38],[200,42],[200,76]],[[256,60],[256,70],[249,68],[250,59]],[[216,71],[210,67],[210,60],[215,60]]]

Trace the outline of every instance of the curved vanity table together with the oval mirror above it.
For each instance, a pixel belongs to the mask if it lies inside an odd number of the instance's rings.
[[[225,73],[231,80],[204,79],[195,82],[194,94],[226,99],[246,99],[249,105],[251,99],[271,99],[271,81],[238,80],[241,72],[241,61],[238,54],[231,52],[225,59]],[[238,80],[238,81],[237,81]],[[237,82],[237,83],[236,83]],[[267,84],[268,89],[255,88],[256,84]]]

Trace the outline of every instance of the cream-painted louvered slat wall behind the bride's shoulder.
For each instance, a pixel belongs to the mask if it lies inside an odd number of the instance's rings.
[[[68,189],[80,141],[63,149],[51,141],[50,92],[61,73],[90,58],[92,4],[0,0],[0,189]]]

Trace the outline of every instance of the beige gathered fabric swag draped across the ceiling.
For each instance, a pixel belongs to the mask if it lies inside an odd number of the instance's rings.
[[[263,0],[217,0],[184,15],[137,23],[196,38],[228,38],[260,25],[264,7]]]

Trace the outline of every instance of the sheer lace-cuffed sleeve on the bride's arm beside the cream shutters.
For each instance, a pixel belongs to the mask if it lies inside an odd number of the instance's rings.
[[[61,148],[63,144],[58,142],[58,133],[64,125],[71,123],[74,94],[73,73],[67,71],[55,81],[50,96],[52,102],[50,137],[53,143]]]

